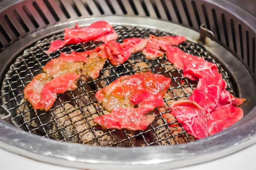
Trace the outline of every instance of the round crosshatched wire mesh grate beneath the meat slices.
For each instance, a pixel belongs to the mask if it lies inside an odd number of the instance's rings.
[[[118,42],[131,37],[147,38],[151,34],[155,36],[172,35],[164,31],[134,26],[114,26],[114,28],[119,34]],[[98,79],[87,81],[81,77],[78,81],[78,88],[75,91],[58,95],[54,106],[48,112],[35,111],[29,102],[23,99],[23,89],[34,76],[42,72],[44,65],[58,57],[61,52],[82,52],[92,50],[102,44],[87,42],[67,45],[51,54],[45,54],[50,42],[63,39],[63,36],[64,34],[61,32],[38,41],[34,46],[27,48],[23,54],[20,54],[7,71],[1,86],[0,102],[12,113],[12,120],[17,122],[17,128],[63,142],[108,147],[144,147],[181,144],[195,140],[171,116],[168,107],[176,100],[188,99],[193,88],[196,87],[196,82],[184,78],[182,71],[176,69],[166,56],[148,60],[142,53],[136,53],[127,62],[117,66],[111,65],[107,61]],[[228,84],[228,91],[234,94],[227,72],[214,58],[209,56],[203,47],[189,41],[183,42],[178,47],[187,53],[204,57],[207,61],[216,63]],[[103,130],[94,124],[93,119],[105,113],[105,110],[97,105],[94,97],[96,91],[120,76],[142,71],[163,74],[172,79],[171,86],[164,97],[166,105],[164,108],[156,109],[154,122],[145,131]]]

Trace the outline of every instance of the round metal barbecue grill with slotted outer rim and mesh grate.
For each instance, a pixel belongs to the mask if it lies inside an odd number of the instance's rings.
[[[253,1],[250,4],[254,5]],[[236,0],[3,0],[0,147],[69,167],[108,169],[109,165],[127,164],[132,168],[166,169],[217,159],[254,144],[254,12]],[[183,77],[166,56],[148,60],[142,53],[133,54],[122,65],[113,66],[107,61],[98,79],[85,81],[82,77],[76,91],[59,95],[50,111],[35,111],[23,99],[23,89],[42,72],[42,67],[61,52],[82,52],[102,44],[66,45],[46,54],[50,42],[63,39],[64,28],[71,28],[76,22],[82,27],[99,20],[113,24],[118,42],[151,34],[186,37],[188,40],[178,47],[216,63],[227,90],[247,99],[241,106],[244,118],[201,140],[195,140],[180,124],[173,127],[177,121],[167,123],[164,115],[170,111],[160,109],[145,131],[102,130],[92,122],[105,113],[94,95],[120,76],[152,71],[169,77],[169,96],[164,98],[167,106],[178,99],[188,99],[196,87],[196,82]]]

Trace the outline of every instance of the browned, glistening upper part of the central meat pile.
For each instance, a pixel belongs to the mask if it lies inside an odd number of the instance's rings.
[[[150,72],[122,76],[105,88],[99,89],[95,97],[99,104],[109,112],[117,107],[133,108],[134,103],[130,99],[137,90],[164,96],[170,82],[170,79]]]

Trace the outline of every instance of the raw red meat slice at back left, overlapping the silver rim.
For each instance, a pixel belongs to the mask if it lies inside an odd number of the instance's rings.
[[[76,24],[75,28],[66,28],[64,31],[64,41],[53,41],[46,53],[56,51],[67,44],[77,44],[95,40],[110,42],[117,38],[118,35],[116,31],[114,31],[113,26],[105,21],[99,21],[84,28],[79,28]]]

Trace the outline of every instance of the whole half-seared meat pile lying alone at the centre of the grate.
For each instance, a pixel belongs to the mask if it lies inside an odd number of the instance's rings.
[[[145,130],[154,120],[152,111],[163,107],[163,96],[170,82],[170,79],[150,72],[116,79],[96,92],[99,104],[111,114],[100,116],[94,122],[104,128]]]

